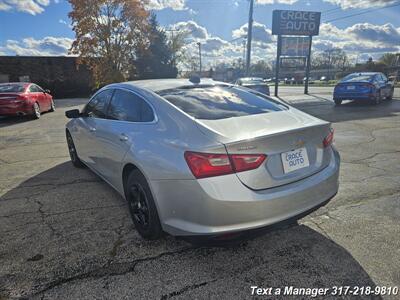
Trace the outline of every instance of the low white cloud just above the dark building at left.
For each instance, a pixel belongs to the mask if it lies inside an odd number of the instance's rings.
[[[14,55],[65,56],[68,55],[72,42],[72,39],[65,37],[47,36],[38,40],[29,37],[22,41],[7,40],[1,49],[3,52]]]

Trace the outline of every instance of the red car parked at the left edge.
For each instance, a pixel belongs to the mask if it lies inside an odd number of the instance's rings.
[[[54,111],[53,97],[34,83],[0,83],[0,116],[32,115],[35,119],[45,111]]]

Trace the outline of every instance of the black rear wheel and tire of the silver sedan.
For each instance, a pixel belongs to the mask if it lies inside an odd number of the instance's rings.
[[[133,170],[126,180],[125,196],[129,213],[136,230],[146,240],[156,240],[162,236],[162,228],[146,178],[139,170]]]

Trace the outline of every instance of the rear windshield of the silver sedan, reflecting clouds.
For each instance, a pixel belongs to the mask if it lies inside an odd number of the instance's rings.
[[[218,120],[286,109],[260,93],[233,86],[178,88],[158,92],[173,105],[196,119]]]

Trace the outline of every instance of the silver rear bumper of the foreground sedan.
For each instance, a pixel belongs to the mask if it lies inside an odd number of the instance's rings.
[[[332,148],[333,149],[333,148]],[[322,205],[338,191],[340,157],[301,181],[254,191],[235,174],[150,182],[163,229],[173,235],[216,235],[272,225]]]

